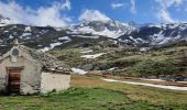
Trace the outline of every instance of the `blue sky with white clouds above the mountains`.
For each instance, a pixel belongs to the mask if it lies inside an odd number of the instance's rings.
[[[187,22],[187,0],[0,0],[0,14],[40,26],[82,21]]]

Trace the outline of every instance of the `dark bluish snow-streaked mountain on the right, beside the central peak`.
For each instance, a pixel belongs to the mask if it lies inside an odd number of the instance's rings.
[[[119,41],[136,46],[162,45],[184,40],[187,40],[187,23],[143,25],[135,31],[119,37]]]

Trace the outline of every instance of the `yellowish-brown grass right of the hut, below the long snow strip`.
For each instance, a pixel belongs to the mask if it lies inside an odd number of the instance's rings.
[[[78,81],[75,81],[78,80]],[[164,110],[187,110],[187,92],[178,90],[167,90],[146,86],[135,86],[120,82],[105,82],[100,78],[73,76],[73,86],[85,88],[96,87],[100,82],[99,88],[110,91],[122,92],[123,98],[129,98],[134,102],[142,102],[147,109],[150,106]],[[80,80],[89,80],[81,81]],[[91,82],[90,82],[91,81]],[[78,84],[78,85],[77,85]],[[88,85],[89,84],[89,85]],[[94,85],[95,84],[95,85]],[[146,110],[143,109],[143,110]]]

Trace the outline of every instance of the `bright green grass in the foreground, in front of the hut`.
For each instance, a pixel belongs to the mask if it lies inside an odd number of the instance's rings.
[[[3,110],[160,110],[162,107],[133,101],[123,92],[103,88],[70,88],[44,96],[0,97]]]

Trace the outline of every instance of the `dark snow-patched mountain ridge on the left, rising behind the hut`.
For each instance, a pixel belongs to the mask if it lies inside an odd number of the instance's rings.
[[[19,38],[21,44],[43,52],[57,46],[81,47],[110,40],[101,35],[77,33],[64,28],[4,24],[0,26],[0,53],[4,53],[14,38]]]

